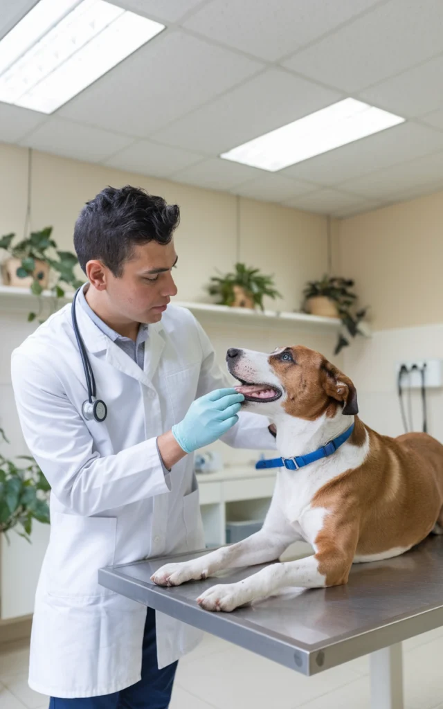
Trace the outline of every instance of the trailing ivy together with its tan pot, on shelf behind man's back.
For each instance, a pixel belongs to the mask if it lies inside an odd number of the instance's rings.
[[[65,289],[60,285],[62,283],[74,289],[82,285],[82,281],[74,274],[74,267],[78,263],[77,256],[69,251],[58,251],[51,234],[52,227],[47,226],[30,233],[28,238],[14,245],[14,233],[0,238],[0,249],[9,254],[9,258],[1,264],[6,286],[28,287],[35,296],[40,296],[49,286],[51,270],[57,275],[51,287],[55,298],[65,296]],[[36,317],[36,313],[29,313],[28,320],[34,320]]]

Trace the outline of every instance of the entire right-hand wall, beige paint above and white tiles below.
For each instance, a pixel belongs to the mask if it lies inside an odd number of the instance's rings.
[[[338,223],[340,270],[371,306],[374,335],[344,351],[363,420],[386,435],[403,433],[396,364],[443,360],[443,193],[398,203]],[[412,394],[420,430],[420,392]],[[428,393],[430,428],[443,441],[443,391]]]

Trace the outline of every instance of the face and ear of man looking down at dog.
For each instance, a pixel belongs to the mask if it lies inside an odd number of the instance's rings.
[[[134,247],[120,277],[114,277],[106,269],[106,292],[113,311],[136,323],[161,320],[170,298],[177,292],[171,272],[176,260],[173,240],[166,245],[151,241]]]

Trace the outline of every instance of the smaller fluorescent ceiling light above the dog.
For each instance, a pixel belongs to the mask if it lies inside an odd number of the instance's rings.
[[[404,121],[381,108],[344,99],[223,152],[220,157],[276,172]]]

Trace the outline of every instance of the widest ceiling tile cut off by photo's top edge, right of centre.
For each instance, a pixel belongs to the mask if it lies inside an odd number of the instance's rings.
[[[213,0],[184,27],[274,62],[375,4],[376,0]]]

